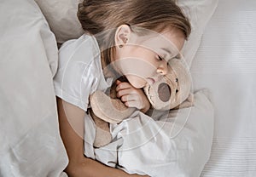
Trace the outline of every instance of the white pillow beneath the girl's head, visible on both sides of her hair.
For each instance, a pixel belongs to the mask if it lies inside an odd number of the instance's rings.
[[[83,34],[77,18],[78,3],[83,0],[35,1],[48,20],[58,43],[78,38]],[[184,14],[189,17],[192,26],[189,41],[183,48],[183,54],[190,66],[201,43],[201,36],[205,26],[218,5],[218,0],[177,0],[177,4],[183,9]]]

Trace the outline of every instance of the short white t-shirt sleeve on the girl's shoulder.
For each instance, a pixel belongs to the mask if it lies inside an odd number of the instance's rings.
[[[96,90],[99,80],[92,71],[90,57],[93,54],[88,52],[88,47],[86,43],[69,42],[63,45],[59,51],[58,71],[54,77],[56,96],[84,111],[87,111],[89,95]]]

